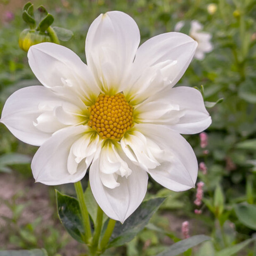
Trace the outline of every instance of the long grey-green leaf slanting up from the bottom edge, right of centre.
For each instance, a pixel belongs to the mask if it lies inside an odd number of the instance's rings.
[[[156,256],[176,256],[187,251],[191,247],[194,247],[197,244],[200,244],[201,242],[210,239],[211,237],[208,237],[206,235],[195,235],[193,237],[189,237],[187,239],[181,240],[180,242],[171,245],[167,250],[162,251],[160,254],[157,254]]]

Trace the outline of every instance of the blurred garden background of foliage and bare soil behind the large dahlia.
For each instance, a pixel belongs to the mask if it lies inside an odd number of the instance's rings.
[[[19,34],[28,28],[21,18],[26,2],[0,0],[0,112],[12,92],[39,84],[28,66],[26,52],[18,44]],[[211,256],[238,248],[222,255],[255,256],[256,1],[31,2],[35,10],[43,5],[54,16],[52,26],[73,31],[73,37],[61,44],[84,62],[88,28],[100,13],[109,10],[133,17],[140,28],[141,42],[177,30],[175,25],[185,21],[180,31],[200,43],[202,37],[192,35],[190,22],[197,20],[201,24],[200,30],[208,33],[212,48],[200,59],[193,59],[176,86],[197,87],[212,117],[212,125],[205,133],[185,136],[199,162],[198,183],[203,183],[177,193],[150,180],[147,198],[168,198],[139,236],[104,255],[156,255],[185,238],[182,225],[188,221],[188,235],[205,234],[212,240],[183,255]],[[50,256],[79,255],[83,246],[73,241],[58,220],[54,187],[34,183],[30,162],[36,150],[18,141],[0,124],[0,249],[45,248]],[[58,189],[74,194],[72,185]]]

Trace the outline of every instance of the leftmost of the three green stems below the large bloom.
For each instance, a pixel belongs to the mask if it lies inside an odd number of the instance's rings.
[[[84,200],[84,196],[83,196],[83,187],[82,187],[81,181],[74,183],[74,186],[75,186],[76,195],[77,195],[77,199],[79,202],[79,207],[80,207],[81,215],[82,215],[83,228],[85,231],[85,242],[88,244],[89,239],[92,237],[92,232],[91,232],[91,227],[90,227],[89,214],[88,214],[88,210],[85,205],[85,200]]]

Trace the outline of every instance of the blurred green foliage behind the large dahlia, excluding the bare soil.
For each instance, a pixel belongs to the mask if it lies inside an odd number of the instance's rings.
[[[0,5],[5,3],[8,1],[1,1]],[[161,214],[154,215],[151,223],[126,247],[110,254],[106,251],[105,255],[156,255],[170,241],[177,242],[182,237],[177,230],[170,231],[166,217],[170,214],[178,220],[191,220],[193,235],[204,232],[213,238],[197,253],[192,254],[190,250],[184,255],[256,255],[256,246],[248,246],[253,242],[249,239],[255,232],[256,218],[256,0],[36,0],[33,4],[47,8],[55,18],[54,26],[73,31],[73,37],[62,44],[84,62],[88,28],[95,17],[109,10],[132,16],[140,28],[141,42],[173,31],[181,20],[196,19],[204,24],[203,31],[211,33],[214,49],[202,61],[194,59],[178,83],[197,88],[203,85],[206,102],[223,98],[223,102],[209,108],[213,122],[206,131],[208,146],[200,147],[198,135],[185,136],[198,161],[204,161],[208,169],[206,174],[199,170],[198,180],[205,184],[203,204],[199,207],[202,214],[194,214],[198,208],[193,203],[195,190],[174,193],[150,180],[147,197],[168,196],[161,206]],[[214,4],[215,9],[210,9],[210,4]],[[38,84],[28,66],[26,53],[18,45],[19,33],[26,28],[21,22],[22,9],[11,11],[14,19],[0,25],[0,110],[12,92]],[[19,153],[33,156],[36,147],[17,141],[3,125],[0,125],[0,134],[0,157]],[[11,165],[12,162],[8,162],[8,170]],[[22,172],[30,173],[28,166],[24,165]],[[16,214],[21,210],[12,211]],[[19,231],[26,233],[24,237],[32,244],[37,239],[33,237],[36,225],[36,221],[28,223]],[[197,225],[201,225],[203,231]],[[57,236],[56,232],[52,229],[50,237]],[[11,236],[9,242],[30,249],[22,237],[22,234],[18,238]],[[59,249],[49,251],[47,241],[45,248],[49,255]]]

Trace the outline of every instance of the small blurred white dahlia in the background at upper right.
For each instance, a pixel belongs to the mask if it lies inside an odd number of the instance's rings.
[[[184,21],[179,21],[175,25],[174,30],[180,31],[184,25]],[[213,45],[211,43],[211,34],[207,32],[202,32],[202,29],[203,25],[199,21],[191,21],[189,35],[198,43],[194,57],[199,60],[204,59],[205,53],[211,52],[213,50]]]

